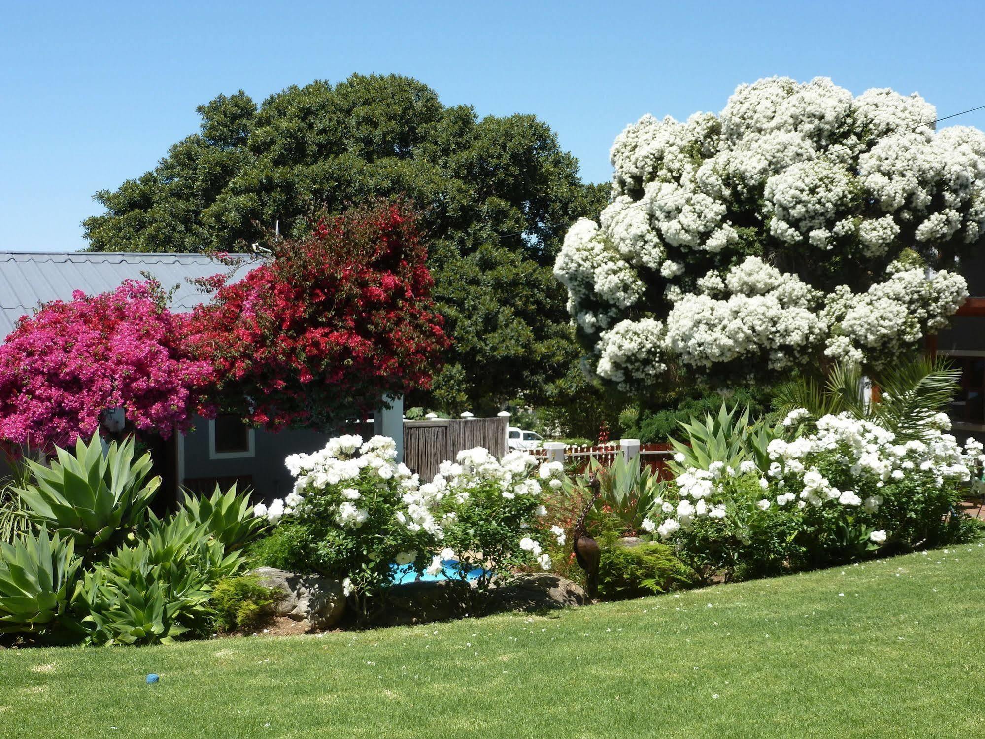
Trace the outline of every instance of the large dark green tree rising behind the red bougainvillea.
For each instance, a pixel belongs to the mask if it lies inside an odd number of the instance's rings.
[[[400,76],[291,87],[257,105],[242,91],[198,112],[200,131],[116,190],[84,222],[96,251],[241,250],[276,224],[302,235],[315,209],[404,196],[422,212],[437,308],[456,339],[437,378],[449,409],[526,395],[574,357],[551,266],[572,221],[597,217],[608,186],[533,115],[445,106]]]

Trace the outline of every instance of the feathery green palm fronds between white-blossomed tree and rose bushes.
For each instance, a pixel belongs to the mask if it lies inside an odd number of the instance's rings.
[[[931,431],[929,422],[947,409],[957,391],[959,370],[943,358],[916,357],[875,372],[878,402],[867,402],[861,392],[865,376],[858,365],[835,365],[819,380],[802,377],[779,388],[776,405],[784,413],[806,409],[815,419],[849,413],[872,421],[900,439],[920,438]]]

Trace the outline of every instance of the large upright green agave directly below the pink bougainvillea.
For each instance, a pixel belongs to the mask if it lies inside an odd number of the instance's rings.
[[[75,453],[56,447],[47,467],[26,460],[33,482],[17,489],[28,515],[92,556],[132,532],[161,485],[149,479],[151,455],[134,461],[133,437],[110,443],[103,452],[99,435],[87,444],[81,437]]]

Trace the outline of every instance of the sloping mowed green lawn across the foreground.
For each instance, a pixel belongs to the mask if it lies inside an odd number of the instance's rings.
[[[983,645],[964,545],[548,617],[0,650],[0,736],[982,737]]]

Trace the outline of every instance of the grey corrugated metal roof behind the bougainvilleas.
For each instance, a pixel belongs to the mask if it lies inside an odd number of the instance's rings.
[[[230,281],[238,280],[259,263],[244,259]],[[188,280],[229,271],[229,267],[204,254],[138,254],[89,251],[0,251],[0,337],[14,330],[17,319],[41,302],[72,300],[81,290],[87,295],[114,290],[124,280],[142,280],[141,272],[157,279],[165,291],[177,287],[168,303],[183,312],[207,296]]]

